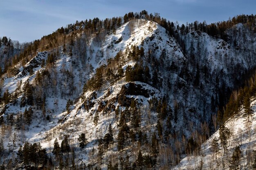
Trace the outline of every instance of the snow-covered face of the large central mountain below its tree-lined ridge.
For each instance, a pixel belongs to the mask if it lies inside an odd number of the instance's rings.
[[[238,30],[235,35],[233,29]],[[244,36],[243,32],[251,37],[250,42],[247,42],[246,38],[240,39]],[[24,124],[22,128],[8,125],[10,128],[3,130],[8,131],[8,135],[1,133],[3,146],[10,151],[5,152],[0,162],[7,161],[12,153],[16,156],[18,151],[16,146],[23,146],[25,141],[29,141],[40,142],[56,163],[58,161],[51,152],[54,140],[57,138],[61,144],[64,136],[68,135],[70,145],[75,151],[73,153],[77,165],[82,163],[97,165],[106,170],[110,159],[116,163],[120,157],[129,155],[130,162],[136,162],[138,150],[142,150],[145,157],[153,159],[150,142],[154,133],[157,133],[160,156],[157,157],[155,166],[158,169],[162,167],[169,169],[179,161],[180,155],[184,154],[181,141],[189,139],[195,130],[201,128],[202,122],[211,123],[211,113],[214,113],[216,106],[223,102],[221,100],[228,97],[230,90],[238,85],[235,81],[241,81],[241,75],[256,65],[253,62],[256,57],[256,48],[254,49],[256,44],[252,43],[256,36],[240,24],[227,30],[229,35],[227,42],[200,31],[180,35],[178,41],[170,37],[159,24],[141,19],[123,24],[114,33],[107,34],[102,31],[101,34],[86,37],[86,34],[81,33],[74,39],[74,46],[70,45],[71,43],[66,44],[67,51],[72,51],[72,55],[70,52],[63,52],[64,46],[59,46],[50,51],[39,52],[22,67],[21,63],[17,64],[17,72],[14,76],[4,75],[2,95],[8,90],[12,97],[16,94],[17,102],[11,100],[10,103],[4,104],[0,117],[4,117],[4,121],[7,122],[7,115],[14,115],[16,119],[20,113],[24,113],[25,109],[30,107],[21,105],[25,92],[23,87],[27,80],[33,86],[34,104],[31,108],[34,110],[34,115],[31,125]],[[83,38],[86,41],[83,41]],[[234,40],[237,41],[239,48],[234,46]],[[144,49],[145,55],[139,58],[139,62],[128,57],[132,46]],[[249,53],[244,48],[252,51]],[[147,83],[126,82],[126,77],[115,78],[111,82],[103,77],[104,84],[99,89],[93,91],[91,88],[85,88],[86,90],[83,91],[83,85],[88,79],[96,76],[97,68],[111,68],[113,77],[117,76],[120,63],[112,64],[114,66],[108,64],[109,59],[114,59],[120,51],[123,57],[121,68],[124,72],[129,65],[132,68],[136,65],[143,69],[147,67],[149,78],[144,81]],[[54,56],[54,62],[44,66],[43,61],[46,63],[50,56]],[[238,68],[239,73],[236,70]],[[104,71],[102,74],[106,75]],[[154,84],[151,77],[158,79],[158,84]],[[150,99],[153,98],[157,99],[155,104],[157,106],[150,104]],[[69,99],[73,104],[67,111]],[[141,133],[135,133],[135,141],[127,137],[126,147],[123,152],[119,152],[117,137],[121,112],[126,114],[126,123],[130,129],[135,131],[132,127],[133,122],[129,118],[133,101],[141,113],[139,124]],[[156,109],[156,107],[162,107],[161,104],[164,102],[168,110],[169,122],[166,117],[160,118],[157,113],[162,111],[161,108]],[[119,115],[116,113],[118,109]],[[16,121],[14,122],[16,124]],[[167,135],[163,135],[166,133],[168,123],[171,123],[172,128]],[[114,143],[104,151],[105,156],[101,165],[96,163],[97,154],[93,155],[92,152],[94,149],[98,152],[99,139],[108,133],[110,124],[113,128]],[[159,134],[160,126],[162,126],[162,134]],[[16,146],[11,140],[14,138],[13,132],[18,134]],[[84,149],[79,148],[78,138],[81,133],[85,133],[88,138],[88,144]],[[139,135],[144,135],[148,143],[141,144],[138,141]],[[207,147],[205,144],[205,154],[209,153]],[[169,154],[168,157],[172,157],[172,160],[166,159],[162,154]],[[64,154],[64,156],[68,155]],[[191,157],[183,159],[181,166],[186,162],[190,163],[188,159],[192,160]],[[195,159],[200,158],[195,157]],[[199,162],[192,161],[192,163]],[[58,166],[58,163],[55,166]],[[188,166],[184,167],[186,168]]]

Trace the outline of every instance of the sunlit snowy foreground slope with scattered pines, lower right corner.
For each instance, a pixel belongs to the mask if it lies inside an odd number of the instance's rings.
[[[224,154],[224,149],[220,144],[219,130],[217,130],[207,141],[202,145],[202,152],[200,155],[191,155],[184,157],[180,163],[173,168],[173,170],[229,170],[229,161],[236,148],[240,146],[243,155],[240,159],[239,167],[241,170],[252,169],[254,159],[253,152],[256,146],[256,100],[251,103],[253,116],[248,122],[245,117],[245,110],[241,109],[240,113],[235,117],[231,117],[226,123],[225,127],[231,132],[229,144]],[[214,138],[218,139],[218,152],[216,159],[216,152],[211,148],[211,143]]]

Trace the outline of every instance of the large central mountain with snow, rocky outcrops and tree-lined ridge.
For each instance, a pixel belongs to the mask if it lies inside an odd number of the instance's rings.
[[[180,27],[141,11],[29,44],[2,75],[2,167],[183,167],[255,95],[234,98],[256,66],[255,17],[241,16]]]

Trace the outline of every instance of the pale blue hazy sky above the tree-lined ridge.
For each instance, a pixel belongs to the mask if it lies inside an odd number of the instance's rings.
[[[142,10],[180,23],[256,14],[256,0],[0,0],[0,37],[29,42],[61,26]]]

